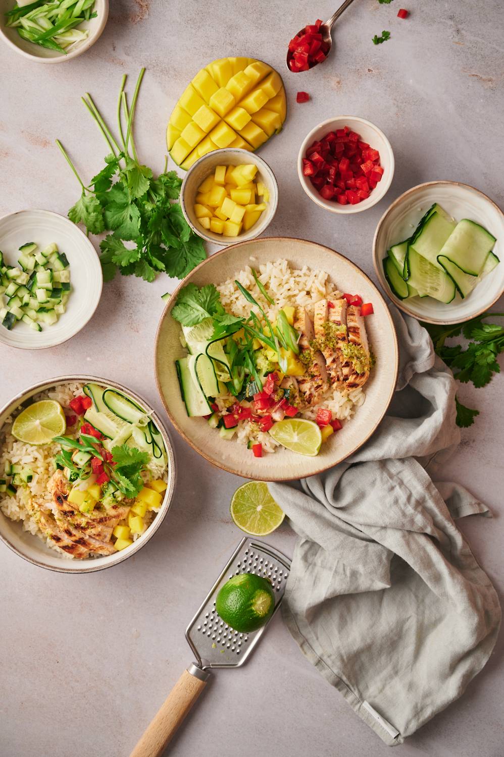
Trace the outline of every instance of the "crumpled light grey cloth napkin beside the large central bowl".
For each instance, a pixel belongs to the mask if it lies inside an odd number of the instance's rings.
[[[340,465],[269,484],[299,534],[283,617],[302,652],[390,746],[462,694],[500,606],[454,518],[484,504],[424,467],[459,443],[455,382],[425,329],[391,308],[399,379],[380,427]]]

